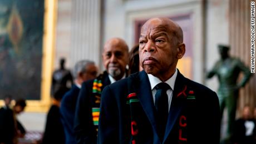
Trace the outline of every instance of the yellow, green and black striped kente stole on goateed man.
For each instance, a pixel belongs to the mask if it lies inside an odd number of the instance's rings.
[[[99,77],[97,77],[93,81],[93,86],[92,86],[92,94],[95,100],[94,101],[95,105],[93,105],[92,107],[92,120],[93,120],[93,125],[95,126],[99,125],[102,77],[103,77],[102,74]]]

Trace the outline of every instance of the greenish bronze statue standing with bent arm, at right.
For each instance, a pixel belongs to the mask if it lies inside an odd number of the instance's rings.
[[[214,75],[218,76],[218,97],[221,119],[223,117],[224,108],[227,107],[228,110],[227,137],[224,138],[224,142],[230,142],[232,141],[234,132],[239,88],[245,86],[251,74],[250,69],[246,67],[240,59],[229,56],[230,48],[228,46],[219,45],[218,48],[221,58],[215,63],[213,69],[207,73],[206,77],[211,78]],[[243,78],[237,82],[240,72],[243,72]]]

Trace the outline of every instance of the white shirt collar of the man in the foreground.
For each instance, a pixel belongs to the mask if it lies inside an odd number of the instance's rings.
[[[177,74],[178,74],[178,72],[177,72],[177,68],[176,68],[174,75],[171,76],[169,78],[169,80],[165,81],[165,83],[167,83],[171,87],[171,90],[174,90],[174,85],[175,85]],[[151,74],[147,74],[147,76],[149,77],[151,90],[153,90],[158,83],[162,82],[159,78],[157,78]]]

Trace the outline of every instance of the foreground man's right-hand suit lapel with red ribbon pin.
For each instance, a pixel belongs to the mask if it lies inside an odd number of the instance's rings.
[[[186,103],[186,81],[185,77],[181,75],[178,70],[178,75],[176,77],[173,98],[171,100],[171,107],[168,116],[168,122],[165,129],[164,142],[170,135],[171,130],[173,129],[177,118],[180,115],[181,110],[184,108]]]

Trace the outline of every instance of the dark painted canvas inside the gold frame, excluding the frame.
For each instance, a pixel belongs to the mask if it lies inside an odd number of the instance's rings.
[[[0,99],[40,100],[44,4],[0,1]]]

